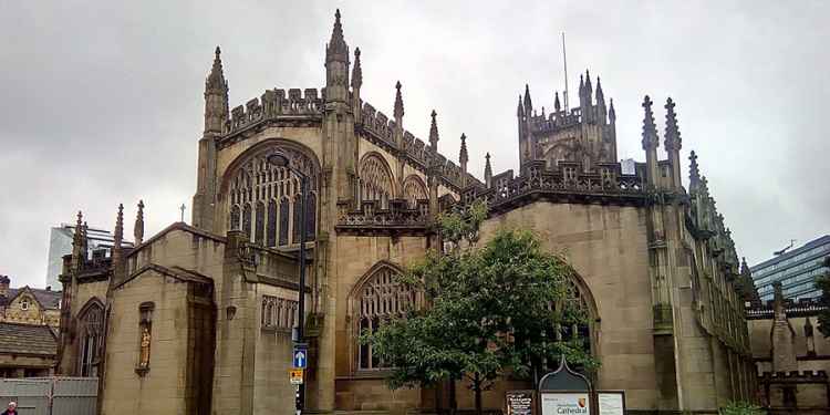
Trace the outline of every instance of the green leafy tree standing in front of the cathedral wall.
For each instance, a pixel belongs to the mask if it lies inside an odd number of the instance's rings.
[[[479,203],[439,218],[447,252],[428,252],[400,278],[424,293],[427,307],[362,339],[393,367],[391,387],[466,378],[478,414],[481,393],[506,371],[528,376],[561,354],[596,365],[584,352],[587,339],[558,336],[558,328],[585,321],[568,299],[571,267],[525,230],[499,230],[477,247],[486,214]]]

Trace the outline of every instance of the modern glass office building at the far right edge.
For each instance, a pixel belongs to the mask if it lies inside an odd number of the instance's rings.
[[[792,300],[817,298],[816,278],[830,271],[824,258],[830,257],[830,235],[811,240],[802,247],[749,267],[761,301],[772,300],[772,283],[781,282],[784,297]]]

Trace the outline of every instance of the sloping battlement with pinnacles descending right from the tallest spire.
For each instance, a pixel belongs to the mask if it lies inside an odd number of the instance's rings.
[[[390,120],[386,114],[376,111],[370,103],[363,103],[361,113],[363,131],[371,138],[378,139],[390,148],[401,149],[398,148],[398,144],[395,143],[395,128],[397,125],[394,120]],[[455,190],[460,190],[471,184],[483,185],[469,174],[467,174],[465,181],[465,174],[460,166],[448,160],[444,155],[433,152],[423,139],[415,137],[408,131],[403,132],[402,149],[422,170],[437,166],[445,184]]]

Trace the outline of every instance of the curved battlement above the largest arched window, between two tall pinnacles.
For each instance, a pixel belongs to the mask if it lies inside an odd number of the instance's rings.
[[[280,116],[321,116],[325,89],[268,90],[261,97],[255,97],[245,105],[230,111],[230,120],[225,122],[225,134],[231,134],[263,120]]]

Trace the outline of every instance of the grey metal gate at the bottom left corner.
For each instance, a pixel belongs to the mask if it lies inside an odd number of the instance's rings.
[[[97,377],[0,378],[0,408],[18,403],[20,415],[94,415]]]

